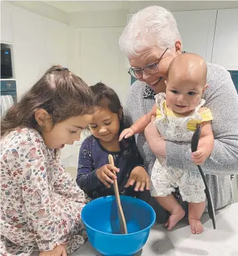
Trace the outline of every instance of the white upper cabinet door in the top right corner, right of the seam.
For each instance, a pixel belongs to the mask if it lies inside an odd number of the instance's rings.
[[[238,9],[218,10],[212,63],[238,70]]]

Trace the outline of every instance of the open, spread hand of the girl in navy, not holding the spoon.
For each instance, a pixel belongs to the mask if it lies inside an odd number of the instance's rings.
[[[136,184],[135,184],[136,182]],[[142,166],[137,166],[131,171],[129,180],[126,182],[125,188],[135,184],[135,191],[144,191],[150,189],[150,177]]]

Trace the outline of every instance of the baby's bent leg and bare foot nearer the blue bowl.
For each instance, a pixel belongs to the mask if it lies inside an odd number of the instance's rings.
[[[158,204],[171,214],[169,220],[165,223],[165,227],[167,227],[168,230],[171,230],[182,218],[184,218],[184,209],[180,206],[173,195],[155,198]]]

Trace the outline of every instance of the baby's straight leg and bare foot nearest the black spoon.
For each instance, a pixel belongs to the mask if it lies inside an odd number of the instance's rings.
[[[201,203],[188,203],[188,222],[190,224],[192,234],[201,234],[204,231],[200,221],[205,209],[205,201]]]

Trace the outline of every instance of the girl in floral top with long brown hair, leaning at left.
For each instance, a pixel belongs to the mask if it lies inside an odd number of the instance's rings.
[[[1,254],[61,256],[86,239],[84,192],[67,174],[60,148],[91,120],[92,91],[53,66],[1,122]]]

